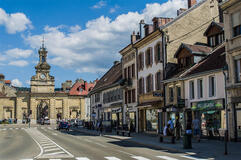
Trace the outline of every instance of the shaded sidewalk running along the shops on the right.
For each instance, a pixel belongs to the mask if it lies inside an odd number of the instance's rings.
[[[83,128],[73,128],[75,131],[79,131],[85,134],[99,136],[99,133],[95,130],[87,130]],[[182,140],[176,141],[175,144],[160,143],[157,136],[149,136],[141,133],[132,133],[131,137],[118,136],[114,132],[103,133],[103,137],[117,139],[120,141],[134,142],[139,145],[145,145],[146,147],[168,150],[169,152],[180,152],[195,155],[195,157],[213,158],[218,160],[241,160],[241,143],[240,142],[228,142],[228,155],[224,155],[224,142],[217,140],[203,139],[200,143],[193,139],[192,149],[183,149]]]

